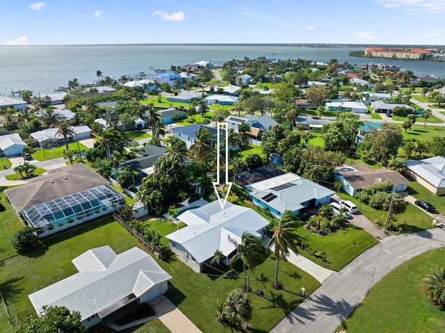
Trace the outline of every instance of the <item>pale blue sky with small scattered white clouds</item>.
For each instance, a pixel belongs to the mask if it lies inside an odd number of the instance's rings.
[[[11,0],[0,45],[445,44],[445,0]]]

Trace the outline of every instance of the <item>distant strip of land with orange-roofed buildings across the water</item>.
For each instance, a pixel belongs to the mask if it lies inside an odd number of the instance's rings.
[[[402,48],[402,47],[366,47],[364,51],[352,51],[349,56],[367,58],[387,58],[403,60],[444,60],[445,49],[437,48]],[[441,59],[442,58],[442,59]]]

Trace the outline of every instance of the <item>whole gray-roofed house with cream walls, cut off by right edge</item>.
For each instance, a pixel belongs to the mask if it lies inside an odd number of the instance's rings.
[[[442,156],[406,161],[406,172],[436,195],[445,195],[445,159]]]

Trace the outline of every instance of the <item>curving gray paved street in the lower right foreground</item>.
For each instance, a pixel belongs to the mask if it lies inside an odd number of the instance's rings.
[[[439,228],[385,238],[325,279],[270,332],[334,332],[382,277],[416,255],[444,246],[445,230]]]

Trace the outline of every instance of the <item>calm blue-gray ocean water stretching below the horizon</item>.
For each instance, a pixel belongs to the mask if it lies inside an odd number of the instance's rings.
[[[348,56],[362,47],[302,47],[295,45],[67,45],[67,46],[0,46],[0,95],[11,90],[32,90],[35,95],[53,93],[60,86],[76,78],[80,83],[97,80],[96,72],[115,79],[122,75],[134,76],[145,72],[153,76],[149,67],[169,69],[171,65],[186,65],[200,60],[211,60],[220,65],[230,59],[302,58],[339,63],[387,63],[401,65],[420,75],[445,78],[445,63],[413,60],[388,60]]]

